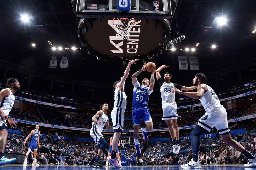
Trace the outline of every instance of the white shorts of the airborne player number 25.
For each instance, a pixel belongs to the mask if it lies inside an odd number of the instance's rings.
[[[178,119],[178,110],[176,102],[162,102],[163,118],[162,120]]]

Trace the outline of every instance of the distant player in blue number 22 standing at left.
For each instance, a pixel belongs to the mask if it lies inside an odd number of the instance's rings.
[[[30,138],[28,152],[26,153],[23,165],[27,165],[28,154],[31,152],[31,149],[34,149],[34,161],[33,161],[32,165],[39,165],[38,163],[36,163],[37,144],[38,144],[38,148],[41,148],[41,146],[39,144],[40,131],[38,129],[39,129],[39,125],[37,124],[36,129],[31,130],[31,132],[29,133],[29,135],[26,137],[25,141],[23,142],[23,144],[26,144],[26,141],[32,135]]]

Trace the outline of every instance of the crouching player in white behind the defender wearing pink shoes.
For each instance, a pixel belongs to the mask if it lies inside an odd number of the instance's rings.
[[[90,135],[94,139],[96,146],[99,146],[99,149],[95,152],[92,160],[87,164],[91,167],[103,167],[100,164],[100,156],[106,148],[107,142],[102,135],[103,127],[106,126],[106,129],[112,129],[112,126],[109,126],[108,123],[108,104],[103,103],[100,106],[100,110],[92,117],[92,128],[90,129]]]

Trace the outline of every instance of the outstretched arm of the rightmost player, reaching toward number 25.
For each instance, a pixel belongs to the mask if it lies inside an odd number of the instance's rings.
[[[176,92],[176,93],[183,94],[183,95],[188,96],[193,99],[201,99],[201,97],[203,97],[203,95],[205,93],[205,90],[207,90],[207,87],[205,85],[198,85],[197,92],[182,92],[179,89],[177,89],[176,87],[174,87],[174,90],[172,91],[172,93]]]

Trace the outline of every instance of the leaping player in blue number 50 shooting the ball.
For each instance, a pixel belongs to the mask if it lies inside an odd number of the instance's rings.
[[[132,75],[132,84],[134,86],[132,99],[133,137],[137,155],[140,155],[140,143],[138,137],[141,120],[146,123],[146,128],[141,128],[142,137],[145,141],[148,140],[147,132],[153,129],[153,121],[148,110],[148,100],[149,95],[153,92],[156,68],[151,72],[150,81],[147,78],[144,78],[140,85],[136,77],[142,71],[146,70],[145,66],[146,63],[144,63],[139,71]]]

